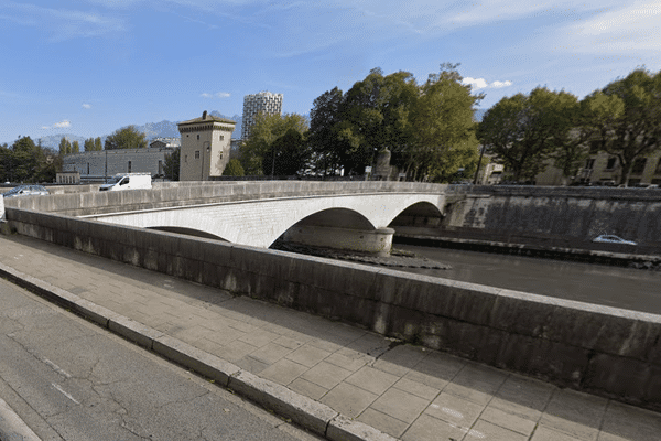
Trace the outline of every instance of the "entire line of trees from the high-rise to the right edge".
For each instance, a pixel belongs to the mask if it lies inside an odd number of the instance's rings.
[[[310,120],[260,115],[240,148],[246,174],[362,174],[383,149],[416,181],[447,182],[475,172],[480,144],[514,181],[534,180],[550,164],[576,176],[599,151],[618,158],[621,183],[636,159],[661,149],[661,72],[638,68],[584,99],[538,87],[505,97],[474,119],[484,95],[462,84],[457,65],[418,84],[410,73],[372,69],[347,93],[314,100]]]

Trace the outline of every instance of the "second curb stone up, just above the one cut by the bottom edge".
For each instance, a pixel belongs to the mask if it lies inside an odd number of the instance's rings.
[[[321,435],[326,434],[328,423],[338,416],[326,405],[246,370],[234,375],[228,388]]]

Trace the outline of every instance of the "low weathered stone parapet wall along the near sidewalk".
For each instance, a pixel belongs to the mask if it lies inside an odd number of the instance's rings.
[[[7,207],[19,234],[661,410],[661,316]]]

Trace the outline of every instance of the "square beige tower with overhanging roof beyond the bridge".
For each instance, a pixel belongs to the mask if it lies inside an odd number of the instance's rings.
[[[223,175],[229,161],[235,121],[207,115],[177,125],[182,135],[180,181],[208,181]]]

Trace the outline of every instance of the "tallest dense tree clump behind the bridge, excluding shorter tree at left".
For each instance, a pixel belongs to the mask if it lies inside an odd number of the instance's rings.
[[[418,85],[412,74],[379,68],[343,94],[337,87],[314,101],[308,143],[318,174],[361,174],[376,153],[412,179],[443,182],[477,162],[473,106],[481,99],[460,84],[457,65]]]

